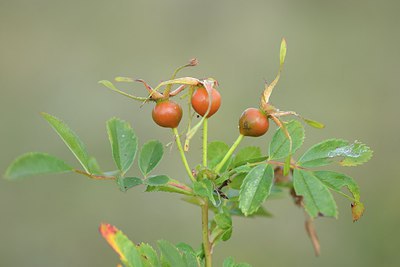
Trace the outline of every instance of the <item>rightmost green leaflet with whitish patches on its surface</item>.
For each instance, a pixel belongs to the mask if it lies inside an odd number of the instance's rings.
[[[298,164],[305,168],[325,166],[337,158],[342,166],[356,166],[367,162],[372,157],[372,150],[356,141],[350,143],[341,139],[329,139],[312,146],[299,159]]]

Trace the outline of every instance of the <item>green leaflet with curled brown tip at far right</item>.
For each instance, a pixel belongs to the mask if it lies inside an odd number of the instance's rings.
[[[336,192],[342,192],[342,187],[347,187],[354,199],[356,201],[360,200],[360,189],[353,178],[332,171],[315,171],[314,175],[324,183],[324,185]]]

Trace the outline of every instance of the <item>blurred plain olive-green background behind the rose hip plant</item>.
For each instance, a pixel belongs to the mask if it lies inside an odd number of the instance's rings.
[[[170,131],[151,121],[151,105],[140,109],[97,81],[131,76],[155,85],[192,57],[200,65],[182,75],[218,79],[223,103],[210,121],[210,139],[230,144],[241,112],[258,105],[263,79],[275,76],[286,37],[272,102],[327,125],[307,127],[303,151],[331,137],[373,148],[366,165],[337,168],[359,182],[366,213],[352,223],[350,203],[336,195],[339,219],[316,220],[322,245],[316,258],[302,211],[290,198],[271,200],[273,219],[234,219],[231,241],[215,250],[216,266],[230,255],[253,266],[399,266],[399,3],[0,0],[0,170],[27,151],[78,166],[40,111],[65,120],[106,170],[113,168],[105,131],[112,116],[128,120],[140,144],[171,142]],[[144,95],[140,84],[123,88]],[[266,151],[269,138],[242,145]],[[194,165],[199,141],[191,152]],[[178,159],[167,150],[156,171],[182,179]],[[115,266],[100,222],[136,242],[201,242],[200,212],[179,196],[123,194],[112,182],[77,175],[1,179],[0,216],[0,266]]]

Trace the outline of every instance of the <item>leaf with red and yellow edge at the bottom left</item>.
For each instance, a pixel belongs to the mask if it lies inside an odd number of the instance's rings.
[[[120,230],[110,224],[101,224],[100,233],[128,267],[142,267],[136,246]]]

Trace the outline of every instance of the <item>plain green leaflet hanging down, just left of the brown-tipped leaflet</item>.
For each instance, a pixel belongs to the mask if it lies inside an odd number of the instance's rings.
[[[303,197],[305,210],[311,217],[337,217],[337,206],[332,194],[312,172],[295,169],[293,186],[296,194]]]

